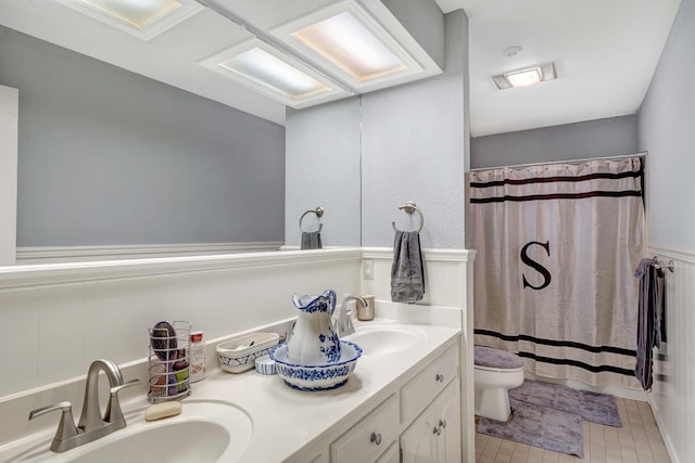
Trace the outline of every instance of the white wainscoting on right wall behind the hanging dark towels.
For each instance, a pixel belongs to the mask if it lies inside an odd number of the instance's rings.
[[[695,458],[695,253],[650,245],[649,255],[673,260],[666,271],[667,343],[655,349],[648,401],[672,463]]]

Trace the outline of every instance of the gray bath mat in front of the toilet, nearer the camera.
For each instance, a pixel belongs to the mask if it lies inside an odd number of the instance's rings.
[[[514,399],[509,402],[513,415],[508,423],[481,416],[476,430],[515,442],[584,456],[580,415]]]

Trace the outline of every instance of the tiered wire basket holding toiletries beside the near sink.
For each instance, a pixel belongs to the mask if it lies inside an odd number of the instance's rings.
[[[190,336],[191,324],[175,321],[157,323],[149,329],[150,403],[182,399],[191,394]]]

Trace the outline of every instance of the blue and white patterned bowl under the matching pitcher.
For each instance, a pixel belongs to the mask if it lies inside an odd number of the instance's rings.
[[[357,359],[362,357],[362,348],[349,340],[341,340],[340,359],[333,363],[317,365],[300,365],[287,358],[287,344],[280,344],[270,349],[270,358],[275,360],[277,374],[285,380],[285,384],[294,389],[316,391],[336,389],[348,383],[348,376],[357,366]]]

